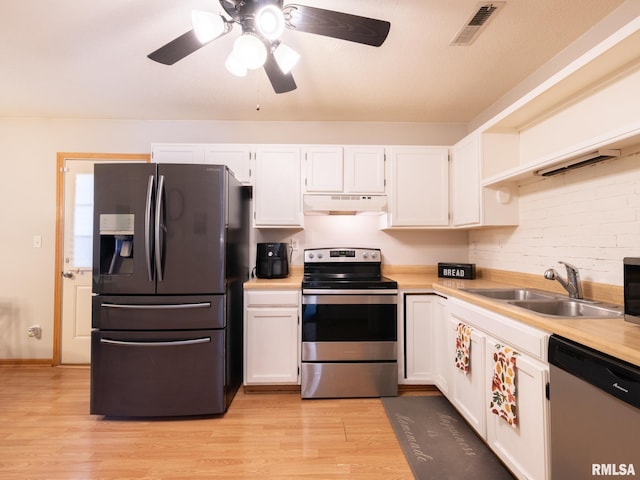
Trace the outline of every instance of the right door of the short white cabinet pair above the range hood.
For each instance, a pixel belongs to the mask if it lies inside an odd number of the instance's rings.
[[[345,193],[384,193],[384,147],[345,147]]]

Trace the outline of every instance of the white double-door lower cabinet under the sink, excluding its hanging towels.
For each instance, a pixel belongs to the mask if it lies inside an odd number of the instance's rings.
[[[519,479],[550,478],[549,334],[466,302],[447,302],[450,342],[450,388],[447,398],[494,453]],[[455,367],[455,335],[459,323],[471,327],[470,370]],[[518,352],[516,357],[516,425],[490,412],[495,345]]]

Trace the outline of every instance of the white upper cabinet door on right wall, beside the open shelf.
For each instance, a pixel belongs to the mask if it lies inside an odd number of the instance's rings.
[[[451,216],[455,226],[480,218],[480,136],[472,134],[451,148]]]

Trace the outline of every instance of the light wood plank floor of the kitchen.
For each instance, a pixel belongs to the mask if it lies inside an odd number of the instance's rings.
[[[241,390],[220,418],[88,412],[88,368],[0,367],[0,479],[413,479],[379,399]]]

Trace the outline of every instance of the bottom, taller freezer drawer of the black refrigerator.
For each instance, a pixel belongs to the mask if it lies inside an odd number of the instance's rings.
[[[92,332],[91,414],[225,412],[224,330]]]

